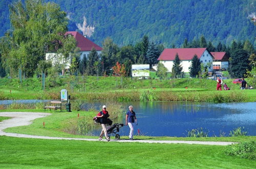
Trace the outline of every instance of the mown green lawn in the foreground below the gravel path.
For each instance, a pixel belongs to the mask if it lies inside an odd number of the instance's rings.
[[[3,168],[253,168],[225,146],[44,140],[0,136]]]

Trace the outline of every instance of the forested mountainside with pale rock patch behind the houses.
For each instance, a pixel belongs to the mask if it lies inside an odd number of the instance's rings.
[[[8,4],[0,2],[0,36],[10,28]],[[217,45],[249,39],[256,46],[256,26],[248,17],[254,0],[46,0],[60,5],[70,19],[69,30],[102,43],[111,37],[119,46],[135,44],[147,35],[156,44],[180,47],[202,35]],[[254,13],[255,14],[255,13]]]

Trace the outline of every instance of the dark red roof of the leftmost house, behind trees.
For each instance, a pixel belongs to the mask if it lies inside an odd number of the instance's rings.
[[[77,41],[77,47],[80,48],[80,51],[91,51],[94,47],[96,51],[101,51],[102,48],[96,44],[93,43],[93,41],[89,40],[88,38],[81,35],[79,32],[76,31],[68,31],[67,34],[72,34],[76,41]]]

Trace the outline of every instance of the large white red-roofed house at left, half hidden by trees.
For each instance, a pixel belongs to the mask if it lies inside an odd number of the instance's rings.
[[[95,48],[98,54],[101,54],[102,48],[98,45],[96,45],[95,43],[93,43],[93,41],[89,40],[88,38],[84,37],[83,35],[81,35],[79,32],[76,31],[68,31],[66,32],[66,35],[71,34],[72,36],[74,36],[74,38],[77,41],[77,47],[80,49],[80,60],[83,59],[83,57],[87,57],[90,53],[90,51]],[[56,60],[56,53],[46,53],[46,60],[52,60],[53,65],[56,62],[59,62],[61,64],[66,63],[65,68],[69,69],[70,67],[70,60],[69,61],[65,61],[63,59],[60,60]],[[60,57],[58,57],[60,58]]]

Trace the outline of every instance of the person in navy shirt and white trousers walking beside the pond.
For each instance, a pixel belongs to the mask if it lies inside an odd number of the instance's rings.
[[[125,125],[128,124],[130,127],[130,135],[129,135],[130,140],[133,140],[134,122],[136,122],[136,124],[138,125],[135,112],[133,111],[133,106],[130,105],[129,111],[127,111],[126,116],[125,116]]]

